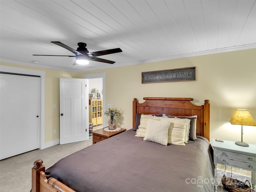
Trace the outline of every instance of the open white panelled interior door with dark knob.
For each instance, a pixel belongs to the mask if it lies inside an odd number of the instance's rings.
[[[86,79],[60,78],[60,144],[84,141]]]

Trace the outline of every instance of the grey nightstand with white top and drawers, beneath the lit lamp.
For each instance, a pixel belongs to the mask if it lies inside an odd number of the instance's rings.
[[[249,144],[249,147],[242,147],[233,141],[217,142],[212,139],[214,150],[214,164],[228,165],[252,172],[252,188],[256,184],[256,145]],[[215,166],[216,166],[215,165]],[[214,179],[217,179],[215,174]]]

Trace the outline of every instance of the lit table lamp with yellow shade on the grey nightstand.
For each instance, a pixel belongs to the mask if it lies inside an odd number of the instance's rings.
[[[232,116],[229,122],[234,125],[242,126],[241,141],[237,141],[235,142],[235,144],[239,146],[248,147],[249,145],[243,142],[243,125],[256,126],[256,122],[252,118],[249,111],[247,109],[236,109],[236,111],[234,112],[234,115]]]

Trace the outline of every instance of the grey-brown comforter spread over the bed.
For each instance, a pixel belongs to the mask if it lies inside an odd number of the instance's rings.
[[[46,170],[77,192],[212,192],[212,147],[198,137],[163,146],[128,130],[61,159]]]

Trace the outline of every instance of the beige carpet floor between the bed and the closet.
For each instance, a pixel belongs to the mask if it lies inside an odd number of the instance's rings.
[[[37,149],[0,161],[0,192],[30,192],[31,169],[34,161],[42,159],[49,168],[58,160],[92,145],[92,138],[82,142]]]

